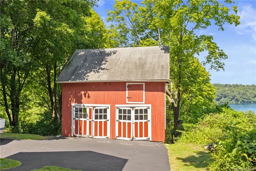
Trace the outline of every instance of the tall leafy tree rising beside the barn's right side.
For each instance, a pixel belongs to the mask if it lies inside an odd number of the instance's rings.
[[[235,15],[237,7],[227,7],[233,3],[231,0],[144,0],[138,5],[123,0],[116,1],[113,11],[108,13],[108,20],[115,22],[112,27],[119,31],[123,46],[170,46],[170,84],[166,86],[166,94],[172,105],[174,132],[182,104],[190,95],[203,98],[201,102],[214,99],[212,86],[200,86],[205,81],[209,85],[210,75],[204,69],[195,73],[195,67],[198,70],[209,64],[210,69],[224,70],[222,60],[227,55],[213,42],[213,36],[197,35],[196,31],[206,30],[211,24],[221,31],[226,23],[240,24],[239,16]],[[202,52],[208,53],[202,65],[194,65],[195,55]],[[211,97],[203,96],[204,91],[211,92]]]

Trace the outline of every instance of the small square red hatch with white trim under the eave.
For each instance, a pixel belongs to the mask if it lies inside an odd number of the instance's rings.
[[[127,83],[127,103],[144,103],[144,83]]]

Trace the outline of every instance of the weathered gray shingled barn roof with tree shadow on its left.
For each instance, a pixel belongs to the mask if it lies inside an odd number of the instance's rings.
[[[169,47],[76,50],[57,82],[168,81]]]

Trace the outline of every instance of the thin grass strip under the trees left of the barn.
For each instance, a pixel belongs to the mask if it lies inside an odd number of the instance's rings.
[[[33,134],[21,134],[21,133],[2,133],[0,138],[17,139],[17,140],[45,140],[49,137],[33,135]]]

